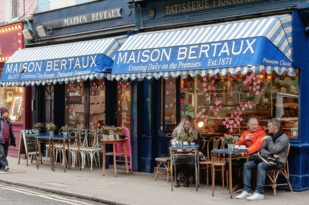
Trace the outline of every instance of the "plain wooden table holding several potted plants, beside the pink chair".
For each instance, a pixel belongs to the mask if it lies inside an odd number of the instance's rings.
[[[116,140],[104,140],[101,139],[103,142],[103,176],[105,176],[105,155],[113,155],[114,156],[114,169],[115,169],[115,177],[117,177],[117,171],[116,171],[116,155],[125,155],[125,169],[127,170],[127,175],[129,175],[129,169],[128,169],[128,159],[127,159],[127,150],[125,147],[125,140],[127,139],[116,139]],[[123,151],[124,152],[116,152],[115,150],[115,144],[122,143]],[[113,152],[105,153],[106,144],[112,144],[113,145]]]

